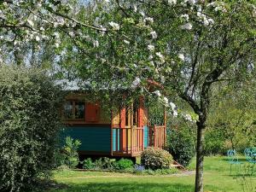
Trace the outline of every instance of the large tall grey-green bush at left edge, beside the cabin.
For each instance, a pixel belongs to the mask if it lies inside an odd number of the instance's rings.
[[[32,188],[55,167],[61,89],[43,71],[0,67],[0,191]]]

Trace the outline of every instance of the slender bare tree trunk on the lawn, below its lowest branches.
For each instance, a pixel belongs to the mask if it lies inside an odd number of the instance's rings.
[[[203,192],[204,126],[197,124],[195,192]]]

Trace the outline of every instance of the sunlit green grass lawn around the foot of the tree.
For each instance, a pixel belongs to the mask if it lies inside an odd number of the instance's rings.
[[[195,167],[195,162],[191,163],[191,167]],[[205,191],[256,192],[255,173],[253,177],[245,179],[230,176],[230,165],[224,157],[206,157],[204,170]],[[128,173],[63,171],[55,172],[54,178],[57,183],[67,184],[67,188],[51,189],[49,192],[189,192],[194,191],[195,183],[195,173],[137,176]],[[247,184],[247,189],[243,190],[242,183]]]

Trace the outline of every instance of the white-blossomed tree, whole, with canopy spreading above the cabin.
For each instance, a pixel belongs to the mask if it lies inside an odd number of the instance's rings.
[[[146,95],[154,84],[167,106],[176,108],[167,98],[173,92],[189,103],[197,114],[195,191],[203,191],[212,87],[254,70],[254,0],[3,2],[0,44],[15,58],[18,45],[49,40],[62,75],[81,86]]]

